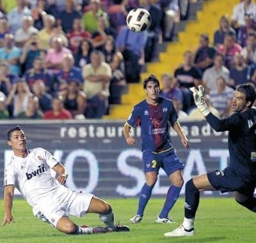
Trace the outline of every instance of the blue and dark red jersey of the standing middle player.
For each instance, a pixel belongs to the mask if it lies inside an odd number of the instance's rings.
[[[127,124],[141,126],[141,151],[161,152],[172,147],[168,130],[177,118],[172,101],[159,97],[157,105],[148,104],[146,99],[135,105]]]

